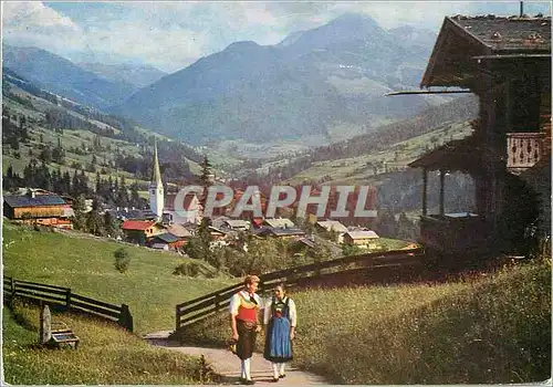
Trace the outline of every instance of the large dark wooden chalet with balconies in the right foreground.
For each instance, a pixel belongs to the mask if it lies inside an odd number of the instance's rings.
[[[470,91],[480,112],[470,136],[409,165],[422,170],[420,241],[447,254],[528,253],[529,229],[551,234],[551,18],[446,18],[421,86]],[[428,211],[430,171],[439,174],[438,213]],[[466,212],[445,208],[450,171],[474,181]]]

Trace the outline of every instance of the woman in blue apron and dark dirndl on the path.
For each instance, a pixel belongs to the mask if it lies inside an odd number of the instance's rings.
[[[285,365],[292,360],[296,324],[294,301],[285,295],[282,284],[276,285],[274,296],[265,304],[263,324],[267,326],[263,357],[272,363],[272,381],[279,381],[286,376]]]

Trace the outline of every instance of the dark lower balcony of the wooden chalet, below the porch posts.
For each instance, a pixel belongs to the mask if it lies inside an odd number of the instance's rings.
[[[420,218],[420,242],[446,254],[487,252],[492,245],[491,230],[490,222],[470,212]]]

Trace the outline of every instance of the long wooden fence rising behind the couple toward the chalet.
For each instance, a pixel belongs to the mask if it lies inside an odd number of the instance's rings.
[[[286,284],[306,283],[310,279],[320,279],[325,275],[340,275],[340,273],[324,274],[328,269],[344,268],[349,264],[359,264],[363,268],[354,269],[371,270],[372,268],[401,266],[420,262],[424,249],[394,250],[386,252],[374,252],[361,255],[343,257],[336,260],[311,263],[303,266],[284,269],[272,273],[260,275],[259,291],[263,292],[274,287],[279,282]],[[242,283],[218,290],[201,297],[184,302],[175,307],[175,332],[182,331],[186,326],[199,322],[209,315],[217,313],[230,305],[230,297],[242,289]]]

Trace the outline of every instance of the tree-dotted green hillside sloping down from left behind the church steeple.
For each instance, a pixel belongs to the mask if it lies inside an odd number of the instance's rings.
[[[95,192],[108,202],[138,207],[138,192],[152,177],[154,142],[165,182],[194,180],[204,157],[181,142],[40,88],[6,67],[2,96],[4,190]]]

